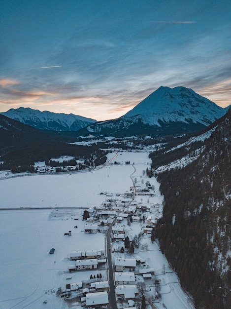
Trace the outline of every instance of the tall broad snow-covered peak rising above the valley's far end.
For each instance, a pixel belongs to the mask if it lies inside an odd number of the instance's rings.
[[[185,87],[161,86],[124,116],[81,129],[83,136],[164,136],[198,131],[226,113]]]

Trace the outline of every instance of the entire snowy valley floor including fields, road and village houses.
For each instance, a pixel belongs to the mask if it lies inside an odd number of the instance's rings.
[[[3,259],[2,265],[10,265],[15,274],[13,282],[4,276],[15,297],[3,285],[0,306],[194,308],[153,238],[163,196],[156,179],[146,175],[148,154],[110,155],[109,164],[93,172],[8,180],[18,197],[19,210],[13,211],[22,220],[13,217],[12,222],[10,207],[16,202],[8,194],[3,203],[9,210],[2,211],[3,248],[8,243],[17,248],[20,267],[15,268],[10,254]],[[25,203],[20,196],[31,184],[40,190],[31,190]],[[7,224],[13,228],[6,234]],[[20,238],[15,238],[19,229]],[[25,289],[21,282],[29,272],[31,284]]]

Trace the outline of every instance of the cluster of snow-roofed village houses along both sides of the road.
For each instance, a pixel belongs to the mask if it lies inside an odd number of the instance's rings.
[[[143,172],[144,176],[144,172]],[[109,246],[109,254],[113,261],[113,279],[115,284],[115,296],[117,308],[141,308],[142,299],[145,299],[146,306],[155,307],[161,297],[161,279],[158,274],[165,274],[168,270],[150,268],[145,258],[134,255],[135,251],[147,251],[148,243],[151,242],[153,228],[161,215],[160,203],[155,203],[155,187],[150,181],[144,183],[143,178],[134,181],[134,187],[130,192],[121,193],[100,193],[105,195],[105,200],[99,207],[83,210],[83,232],[95,234],[98,232],[106,235],[108,227],[111,227],[106,246]],[[137,185],[136,185],[137,184]],[[136,196],[137,198],[135,198]],[[146,202],[143,202],[146,200]],[[73,217],[76,220],[75,217]],[[135,225],[131,233],[131,227]],[[75,226],[77,227],[77,226]],[[71,231],[69,231],[71,232]],[[136,232],[135,234],[133,232]],[[71,234],[69,234],[71,235]],[[142,240],[141,240],[142,239]],[[110,244],[109,244],[110,242]],[[113,308],[110,302],[111,284],[101,275],[100,270],[107,269],[108,256],[106,252],[96,250],[72,251],[69,260],[74,264],[68,266],[70,276],[66,287],[61,287],[57,295],[66,300],[75,309],[103,309]],[[72,282],[71,274],[78,271],[99,270],[97,276],[90,275],[90,280]],[[89,275],[88,275],[89,276]],[[105,280],[107,279],[107,280]]]

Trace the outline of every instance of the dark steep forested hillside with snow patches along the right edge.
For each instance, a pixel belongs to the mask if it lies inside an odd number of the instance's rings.
[[[181,155],[194,156],[191,163],[157,175],[164,194],[164,212],[155,235],[182,285],[194,297],[196,308],[228,309],[231,308],[231,110],[209,138],[195,144],[194,149],[187,149],[188,154],[184,151]],[[163,154],[161,160],[179,158],[176,152]]]

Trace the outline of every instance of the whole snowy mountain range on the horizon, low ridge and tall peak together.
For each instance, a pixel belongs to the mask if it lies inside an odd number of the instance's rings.
[[[75,131],[75,136],[155,137],[201,130],[225,115],[227,109],[190,88],[161,86],[127,114],[113,120],[97,122],[73,114],[40,112],[22,107],[1,114],[38,129]]]

